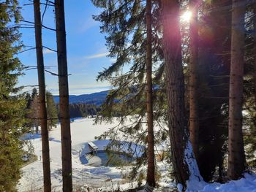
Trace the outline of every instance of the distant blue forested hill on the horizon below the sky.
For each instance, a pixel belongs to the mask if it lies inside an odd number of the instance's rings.
[[[99,93],[83,94],[80,96],[69,95],[69,104],[84,103],[101,105],[108,95],[108,91],[101,91]],[[59,103],[59,96],[53,96],[56,103]]]

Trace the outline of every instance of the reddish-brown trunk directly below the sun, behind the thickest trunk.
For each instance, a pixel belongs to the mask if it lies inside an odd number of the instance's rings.
[[[190,38],[190,66],[189,66],[189,136],[195,157],[198,156],[198,83],[197,83],[197,66],[198,66],[198,28],[197,28],[197,0],[190,0],[189,9],[192,12],[192,18],[189,23]]]

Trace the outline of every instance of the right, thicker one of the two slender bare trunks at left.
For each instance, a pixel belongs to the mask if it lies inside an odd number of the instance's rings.
[[[55,1],[63,191],[72,191],[71,134],[64,0]]]

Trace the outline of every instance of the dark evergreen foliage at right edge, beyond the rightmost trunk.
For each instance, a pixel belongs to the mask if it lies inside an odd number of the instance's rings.
[[[249,166],[255,166],[256,138],[256,3],[247,4],[246,9],[246,38],[245,38],[245,67],[244,67],[244,106],[243,115],[244,148]],[[253,43],[252,43],[253,42]]]

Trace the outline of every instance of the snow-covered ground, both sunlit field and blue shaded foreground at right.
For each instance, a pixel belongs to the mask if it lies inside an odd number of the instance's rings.
[[[94,137],[108,131],[109,128],[116,126],[118,122],[113,124],[94,125],[94,119],[83,118],[75,120],[71,123],[72,135],[72,174],[74,188],[80,188],[81,191],[87,191],[86,188],[92,187],[97,190],[90,191],[113,191],[119,188],[125,190],[127,188],[135,188],[138,184],[130,183],[127,179],[122,177],[127,173],[126,170],[121,170],[115,167],[107,166],[86,166],[80,162],[80,155],[86,146],[86,142],[94,141]],[[50,169],[53,191],[62,191],[61,184],[61,131],[60,126],[53,128],[49,132],[50,137]],[[34,153],[37,155],[37,161],[28,166],[23,167],[23,176],[18,185],[18,191],[42,191],[43,177],[42,177],[42,143],[40,135],[26,135],[24,139],[29,139],[34,146]],[[157,163],[158,170],[161,173],[159,180],[161,188],[174,187],[174,183],[168,177],[168,164],[165,162]],[[144,168],[145,169],[145,168]],[[238,181],[230,181],[230,183],[202,183],[202,187],[198,191],[202,192],[256,192],[256,175],[246,174],[245,178]]]

